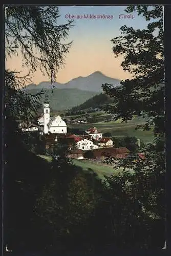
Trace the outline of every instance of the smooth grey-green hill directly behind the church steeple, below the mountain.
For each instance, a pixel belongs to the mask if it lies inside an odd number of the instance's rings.
[[[41,89],[30,89],[27,92],[36,94]],[[53,93],[49,90],[50,108],[51,111],[61,111],[71,109],[73,106],[82,104],[95,96],[97,92],[82,91],[78,89],[53,89]],[[40,102],[44,102],[45,94],[42,94]]]

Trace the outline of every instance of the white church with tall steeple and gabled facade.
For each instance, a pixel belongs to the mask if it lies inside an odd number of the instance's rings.
[[[60,116],[50,117],[49,103],[44,104],[44,133],[67,134],[67,124]]]

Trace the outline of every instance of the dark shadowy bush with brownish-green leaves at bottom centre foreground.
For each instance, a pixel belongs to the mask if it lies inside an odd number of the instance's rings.
[[[62,151],[66,152],[64,148]],[[65,249],[74,247],[78,250],[85,242],[91,243],[94,239],[89,221],[98,204],[99,194],[92,183],[96,185],[99,182],[95,175],[83,172],[82,168],[71,165],[67,159],[65,165],[63,161],[62,164],[59,162],[59,157],[52,162],[51,180],[37,197],[35,211],[42,226],[48,227],[44,232],[48,247],[51,244],[56,251],[58,243],[62,243]]]

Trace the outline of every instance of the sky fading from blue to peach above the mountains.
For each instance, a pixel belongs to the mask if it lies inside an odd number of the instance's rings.
[[[122,57],[115,58],[112,52],[111,39],[120,35],[119,28],[123,25],[136,29],[144,29],[147,22],[137,13],[132,13],[134,18],[119,18],[126,6],[62,6],[59,7],[60,17],[58,23],[67,23],[69,15],[81,15],[82,18],[74,19],[74,27],[70,29],[66,42],[73,40],[70,52],[65,59],[66,65],[57,74],[57,81],[65,83],[78,76],[88,76],[95,71],[101,71],[109,77],[126,79],[131,75],[122,70],[120,63]],[[113,18],[86,18],[91,15],[112,15]],[[123,16],[122,16],[123,17]],[[12,58],[6,62],[6,68],[20,71],[22,59]],[[24,74],[27,71],[24,70]],[[40,71],[34,74],[33,82],[49,80]]]

